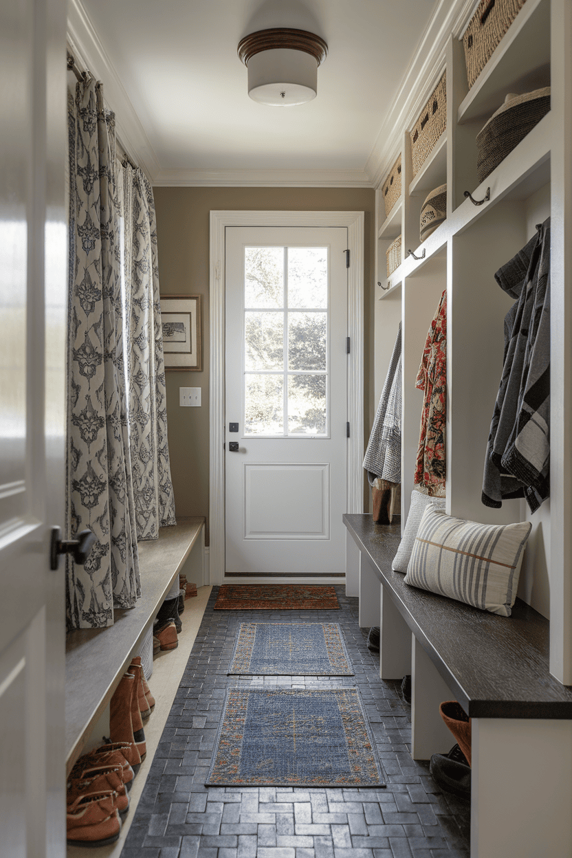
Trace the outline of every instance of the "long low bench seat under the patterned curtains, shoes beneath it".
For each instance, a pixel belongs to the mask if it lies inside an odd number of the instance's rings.
[[[77,629],[66,636],[66,771],[73,767],[95,722],[181,572],[191,583],[204,581],[205,519],[177,519],[159,539],[139,542],[141,598],[135,607],[114,612],[105,629]]]

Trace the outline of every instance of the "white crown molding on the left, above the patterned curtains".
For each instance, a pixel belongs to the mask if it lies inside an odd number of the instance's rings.
[[[117,137],[123,149],[153,180],[160,172],[153,146],[81,0],[68,3],[68,41],[75,58],[103,83],[105,101],[116,114]]]

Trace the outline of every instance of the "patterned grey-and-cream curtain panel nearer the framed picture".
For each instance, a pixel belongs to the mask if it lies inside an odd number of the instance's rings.
[[[125,316],[128,320],[129,439],[137,538],[176,524],[167,444],[165,363],[153,190],[123,166]]]

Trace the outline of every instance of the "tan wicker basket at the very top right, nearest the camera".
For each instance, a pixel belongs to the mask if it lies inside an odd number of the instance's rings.
[[[463,36],[469,89],[524,3],[525,0],[480,0]]]

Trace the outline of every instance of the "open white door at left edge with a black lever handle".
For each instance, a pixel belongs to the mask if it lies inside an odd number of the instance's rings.
[[[63,0],[0,8],[0,854],[65,849]]]

